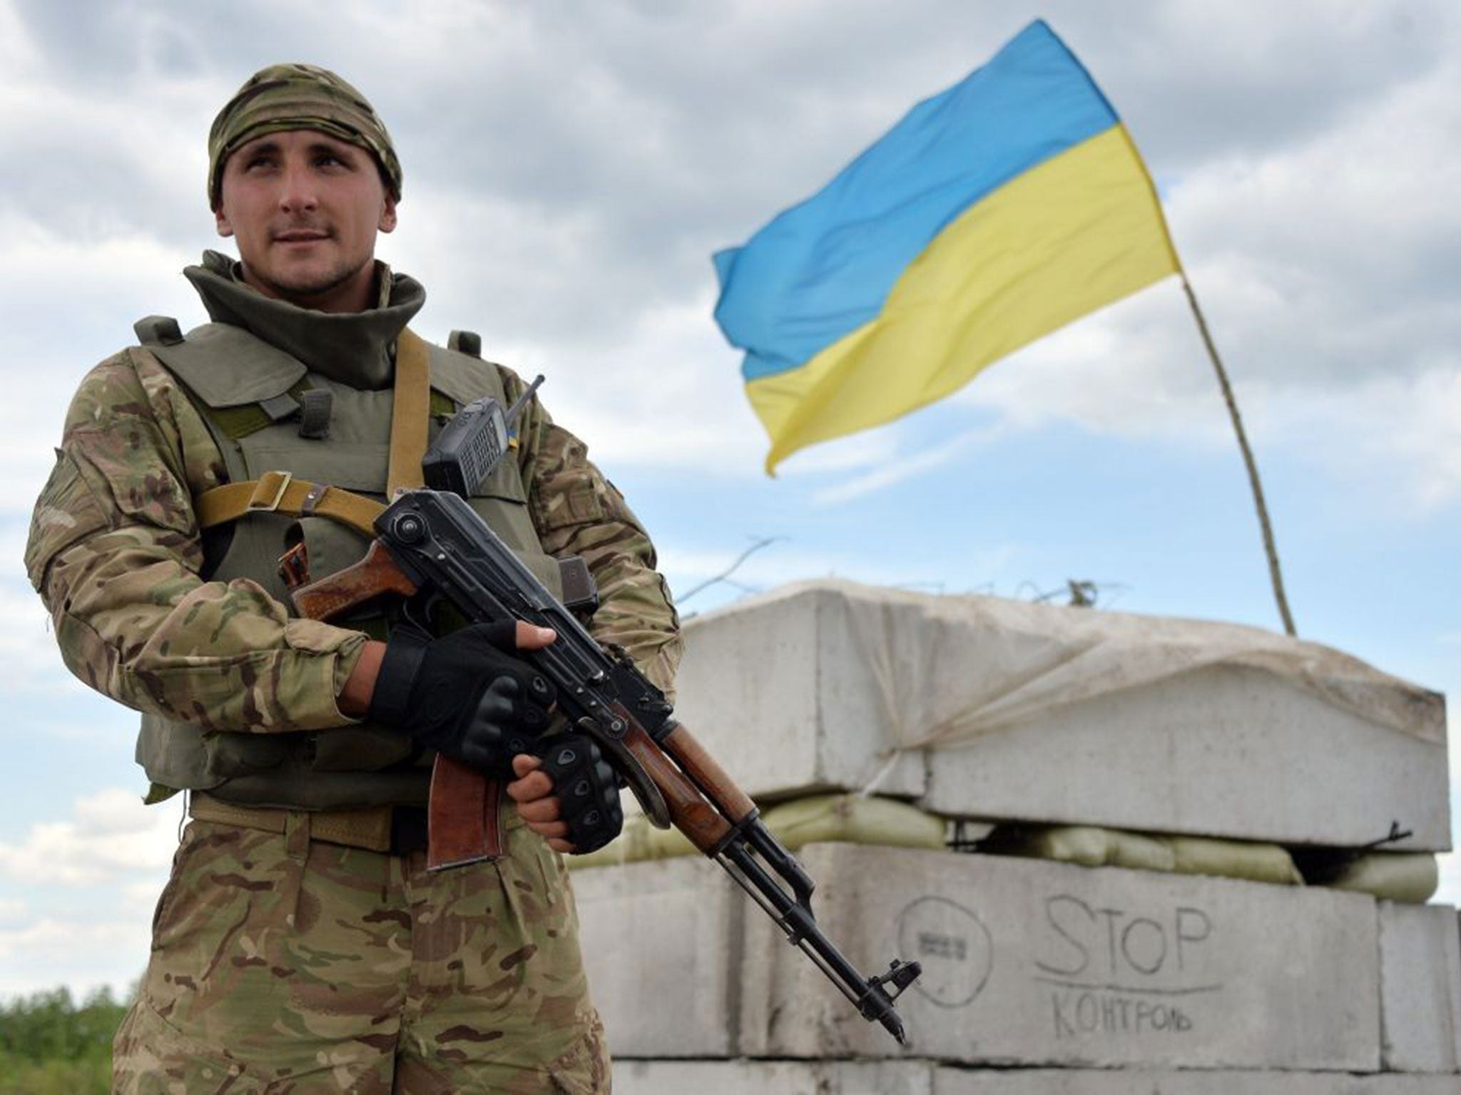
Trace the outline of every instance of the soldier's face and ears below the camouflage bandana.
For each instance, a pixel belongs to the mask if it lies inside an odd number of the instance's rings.
[[[245,282],[304,308],[371,305],[375,232],[396,226],[396,203],[365,149],[269,133],[228,158],[219,194],[218,234],[238,244]]]

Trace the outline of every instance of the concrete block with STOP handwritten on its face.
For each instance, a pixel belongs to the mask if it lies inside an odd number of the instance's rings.
[[[847,844],[808,845],[802,861],[820,921],[859,968],[923,962],[899,1004],[909,1047],[748,917],[748,1057],[1379,1067],[1372,898]]]

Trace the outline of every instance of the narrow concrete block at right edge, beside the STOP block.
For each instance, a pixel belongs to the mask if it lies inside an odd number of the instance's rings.
[[[1461,1069],[1461,934],[1454,908],[1379,904],[1379,987],[1384,1067]]]

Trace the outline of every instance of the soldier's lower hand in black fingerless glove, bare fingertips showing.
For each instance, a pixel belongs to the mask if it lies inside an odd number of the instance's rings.
[[[619,835],[624,812],[614,769],[580,733],[543,739],[536,752],[513,758],[517,780],[507,794],[527,828],[562,853],[598,851]]]

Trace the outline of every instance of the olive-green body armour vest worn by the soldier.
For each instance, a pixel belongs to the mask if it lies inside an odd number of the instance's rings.
[[[392,390],[361,390],[310,371],[289,353],[243,327],[210,323],[186,339],[175,324],[168,334],[143,333],[146,349],[178,378],[213,435],[231,482],[288,472],[295,479],[386,501],[390,454]],[[463,345],[475,342],[475,336]],[[453,339],[456,343],[456,339]],[[482,396],[506,406],[501,375],[479,358],[431,346],[430,437],[449,413]],[[302,431],[288,407],[305,390],[327,391],[327,435]],[[472,492],[472,508],[555,594],[558,564],[545,555],[527,512],[517,463],[504,458]],[[222,527],[222,545],[207,545],[202,575],[210,581],[248,578],[263,585],[291,615],[279,577],[279,556],[302,537],[316,578],[358,562],[368,540],[324,517],[248,512]],[[335,620],[384,638],[386,619]],[[221,731],[143,714],[137,762],[153,784],[206,790],[218,799],[283,809],[349,809],[419,804],[430,787],[430,756],[418,755],[406,734],[370,723],[323,731]],[[156,791],[155,791],[156,793]]]

